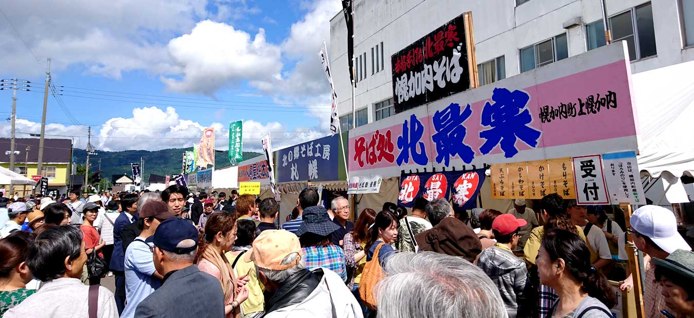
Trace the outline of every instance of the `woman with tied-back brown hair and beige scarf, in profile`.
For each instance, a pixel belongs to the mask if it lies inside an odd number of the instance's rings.
[[[224,253],[231,251],[236,240],[236,214],[212,213],[205,223],[205,231],[198,240],[196,263],[201,272],[208,273],[221,283],[224,291],[226,317],[241,317],[240,305],[248,298],[246,276],[238,279]]]

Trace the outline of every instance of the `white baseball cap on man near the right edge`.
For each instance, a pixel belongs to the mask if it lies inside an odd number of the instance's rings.
[[[634,211],[632,229],[643,236],[648,236],[658,247],[668,253],[676,249],[691,251],[692,248],[677,233],[677,220],[672,211],[657,205],[645,205]]]

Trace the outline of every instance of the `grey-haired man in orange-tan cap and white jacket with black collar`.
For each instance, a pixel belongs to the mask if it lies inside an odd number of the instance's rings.
[[[265,299],[266,318],[362,318],[362,308],[339,275],[322,267],[306,269],[294,233],[263,231],[244,260],[255,263],[258,280],[273,293]]]

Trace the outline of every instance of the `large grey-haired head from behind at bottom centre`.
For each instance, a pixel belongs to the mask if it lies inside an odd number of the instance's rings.
[[[376,292],[379,318],[507,317],[496,285],[464,258],[398,253],[384,274]]]

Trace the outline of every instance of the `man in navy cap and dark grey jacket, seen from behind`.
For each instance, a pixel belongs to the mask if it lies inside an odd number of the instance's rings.
[[[170,218],[159,224],[153,236],[153,260],[164,283],[137,305],[135,318],[224,317],[219,280],[193,264],[197,242],[198,230],[187,220]],[[184,294],[194,297],[181,297]]]

